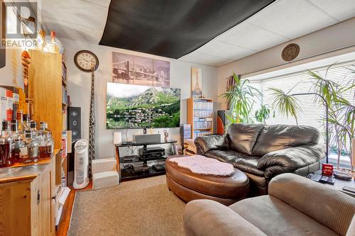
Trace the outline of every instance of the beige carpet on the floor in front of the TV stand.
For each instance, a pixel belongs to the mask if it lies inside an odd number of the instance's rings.
[[[68,235],[183,235],[184,207],[165,175],[79,191]]]

